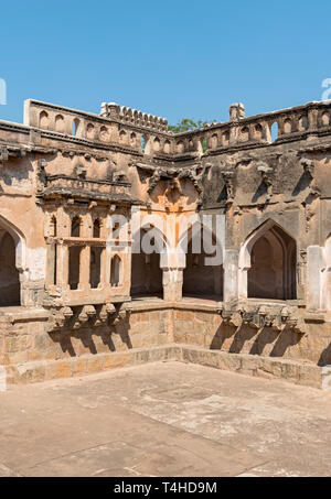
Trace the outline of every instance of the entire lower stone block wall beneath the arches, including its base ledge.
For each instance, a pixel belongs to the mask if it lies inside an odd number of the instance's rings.
[[[179,360],[321,388],[323,369],[331,364],[331,327],[307,325],[305,335],[236,328],[215,307],[140,303],[113,326],[50,332],[46,311],[17,310],[0,315],[0,365],[8,383]]]

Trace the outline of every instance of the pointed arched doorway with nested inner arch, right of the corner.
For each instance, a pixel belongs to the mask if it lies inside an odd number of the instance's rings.
[[[277,224],[269,224],[248,248],[247,296],[254,299],[295,300],[296,241]]]

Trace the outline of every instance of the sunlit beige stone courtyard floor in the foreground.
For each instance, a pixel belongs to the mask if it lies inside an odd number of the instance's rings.
[[[1,476],[330,476],[331,392],[179,362],[0,392]]]

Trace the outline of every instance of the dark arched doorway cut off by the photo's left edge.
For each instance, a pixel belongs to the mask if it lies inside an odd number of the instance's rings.
[[[20,275],[13,237],[0,228],[0,306],[20,305]]]

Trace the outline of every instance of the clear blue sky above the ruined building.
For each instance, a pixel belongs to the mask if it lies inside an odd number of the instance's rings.
[[[0,119],[35,98],[99,112],[116,101],[175,123],[321,99],[331,78],[331,2],[1,2]]]

